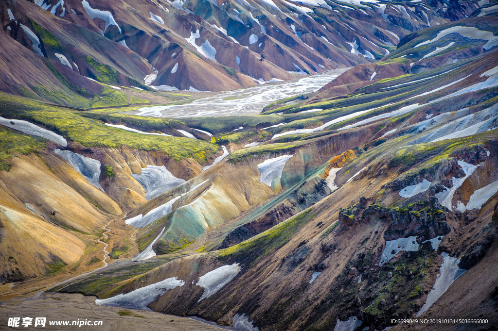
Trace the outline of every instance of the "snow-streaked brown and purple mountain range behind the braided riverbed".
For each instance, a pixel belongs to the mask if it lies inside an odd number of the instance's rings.
[[[379,60],[483,2],[5,0],[0,90],[86,108],[61,94],[99,97],[87,78],[191,91],[289,80]]]

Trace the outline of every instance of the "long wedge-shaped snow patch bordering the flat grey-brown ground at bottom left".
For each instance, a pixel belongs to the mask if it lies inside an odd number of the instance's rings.
[[[167,278],[158,283],[150,284],[126,294],[119,294],[117,296],[107,299],[96,299],[95,304],[98,306],[113,306],[123,307],[128,309],[141,309],[149,310],[147,305],[154,301],[157,296],[161,296],[168,290],[185,285],[185,282],[177,277]]]

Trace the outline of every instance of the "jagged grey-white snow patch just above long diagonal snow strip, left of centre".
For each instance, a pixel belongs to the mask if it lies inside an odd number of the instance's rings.
[[[183,184],[186,180],[175,177],[164,165],[147,165],[139,174],[132,173],[145,190],[145,199],[150,200],[170,189]]]

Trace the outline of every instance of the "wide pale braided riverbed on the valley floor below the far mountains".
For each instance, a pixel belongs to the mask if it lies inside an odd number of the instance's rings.
[[[225,91],[188,104],[142,107],[138,109],[136,115],[196,117],[259,114],[264,106],[275,100],[319,90],[348,69],[335,69],[298,81],[265,83]]]

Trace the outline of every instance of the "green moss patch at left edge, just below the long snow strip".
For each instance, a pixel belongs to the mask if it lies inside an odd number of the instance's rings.
[[[10,170],[6,160],[12,159],[15,153],[28,155],[36,150],[45,149],[46,140],[40,137],[28,136],[7,128],[0,128],[0,171]]]

